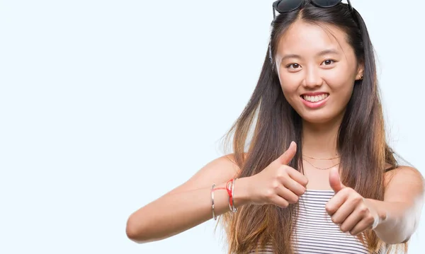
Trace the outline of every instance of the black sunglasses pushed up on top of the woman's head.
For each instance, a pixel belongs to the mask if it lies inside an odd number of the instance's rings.
[[[295,11],[297,8],[300,8],[306,0],[278,0],[273,3],[273,20],[276,18],[275,10],[278,13],[287,13],[290,11]],[[341,3],[342,0],[310,0],[314,6],[328,8],[336,6]],[[348,1],[348,7],[353,11],[353,6],[351,6],[350,0]]]

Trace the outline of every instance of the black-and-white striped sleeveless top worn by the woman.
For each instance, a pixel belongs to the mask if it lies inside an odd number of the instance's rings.
[[[324,206],[334,196],[332,190],[307,190],[298,201],[298,219],[293,234],[293,249],[297,254],[367,254],[367,246],[350,233],[343,233],[331,221]],[[250,253],[256,253],[255,250]],[[259,254],[271,254],[271,245]]]

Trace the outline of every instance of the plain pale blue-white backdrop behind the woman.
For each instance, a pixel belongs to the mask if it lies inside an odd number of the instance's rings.
[[[125,223],[222,155],[272,2],[0,1],[0,253],[225,253],[212,221],[143,245]],[[351,2],[379,57],[390,144],[425,173],[425,3]],[[409,253],[424,234],[422,217]]]

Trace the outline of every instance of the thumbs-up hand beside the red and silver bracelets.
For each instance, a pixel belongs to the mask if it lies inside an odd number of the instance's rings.
[[[288,150],[270,163],[260,173],[248,177],[249,201],[251,204],[276,204],[288,207],[298,202],[304,194],[308,179],[288,166],[297,151],[295,142],[291,142]]]

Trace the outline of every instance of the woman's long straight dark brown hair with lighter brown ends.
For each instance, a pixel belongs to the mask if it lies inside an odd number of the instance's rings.
[[[385,139],[384,117],[378,91],[373,45],[361,15],[347,4],[319,8],[306,1],[302,8],[276,17],[272,23],[270,51],[266,52],[259,81],[249,103],[227,133],[231,137],[235,163],[241,168],[239,178],[255,175],[297,143],[297,154],[289,166],[302,172],[302,119],[285,100],[280,81],[273,67],[273,57],[280,37],[295,23],[303,21],[320,25],[335,25],[346,33],[346,40],[364,64],[363,80],[356,81],[339,127],[337,150],[341,154],[341,180],[365,198],[383,200],[386,163],[397,167],[394,152]],[[254,125],[255,123],[255,125]],[[249,134],[254,125],[254,133]],[[291,234],[297,219],[298,204],[283,209],[275,205],[248,204],[237,213],[227,213],[221,219],[227,232],[229,253],[248,253],[266,244],[274,253],[293,253]],[[368,243],[370,253],[379,250],[407,251],[407,244],[389,246],[373,231],[358,236]],[[391,247],[391,248],[390,248]]]

